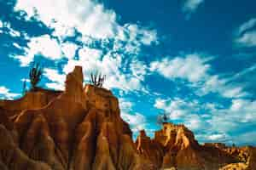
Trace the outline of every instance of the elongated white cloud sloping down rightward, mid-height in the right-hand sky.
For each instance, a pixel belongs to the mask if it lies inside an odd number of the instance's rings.
[[[195,94],[200,96],[211,92],[218,93],[225,98],[239,98],[249,95],[244,92],[243,87],[230,84],[231,79],[210,74],[211,65],[207,63],[210,59],[212,57],[206,58],[201,54],[187,54],[184,57],[153,61],[150,63],[149,70],[170,80],[180,78],[191,82],[190,88],[195,88]]]

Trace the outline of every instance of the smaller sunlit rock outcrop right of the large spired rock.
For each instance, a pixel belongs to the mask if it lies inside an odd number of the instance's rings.
[[[172,123],[164,123],[154,139],[142,131],[136,144],[138,153],[158,169],[215,170],[231,163],[244,163],[239,156],[229,153],[224,144],[201,145],[187,127]]]

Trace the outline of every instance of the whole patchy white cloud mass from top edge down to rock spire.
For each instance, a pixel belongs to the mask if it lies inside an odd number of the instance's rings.
[[[85,80],[88,80],[91,71],[102,71],[108,78],[105,88],[119,88],[125,92],[141,89],[146,91],[141,84],[145,76],[145,65],[137,60],[138,64],[131,64],[131,68],[128,68],[129,73],[126,73],[127,66],[123,64],[136,59],[143,45],[157,42],[155,30],[132,23],[121,26],[113,10],[108,10],[101,3],[91,0],[42,2],[19,0],[15,10],[24,10],[28,14],[27,20],[32,16],[37,17],[46,26],[55,30],[54,38],[35,37],[28,44],[24,56],[15,56],[22,66],[29,65],[34,59],[34,54],[43,54],[44,58],[56,61],[67,59],[67,64],[64,65],[66,74],[72,71],[75,65],[82,65]],[[73,36],[75,30],[81,33],[81,37],[77,39],[81,42],[79,46],[65,41],[65,37]],[[112,43],[108,38],[113,39],[113,49],[108,47],[109,43]],[[89,48],[99,39],[103,42],[102,49]],[[105,48],[108,49],[108,54],[102,56],[102,50]],[[79,54],[79,59],[74,59],[76,52]],[[125,57],[128,54],[129,57]],[[135,71],[141,66],[140,64],[143,68]],[[48,84],[48,86],[52,87],[56,84]]]

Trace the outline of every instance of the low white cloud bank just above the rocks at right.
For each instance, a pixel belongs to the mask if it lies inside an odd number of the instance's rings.
[[[183,122],[197,138],[206,142],[242,143],[246,140],[237,140],[237,135],[256,126],[255,100],[233,99],[231,105],[224,108],[183,99],[156,99],[154,107],[166,111],[171,122]]]

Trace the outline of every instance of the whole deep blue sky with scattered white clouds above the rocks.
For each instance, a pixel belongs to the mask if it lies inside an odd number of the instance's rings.
[[[168,113],[201,143],[256,144],[256,3],[0,0],[0,97],[19,98],[33,61],[63,89],[74,65],[107,75],[134,135]]]

